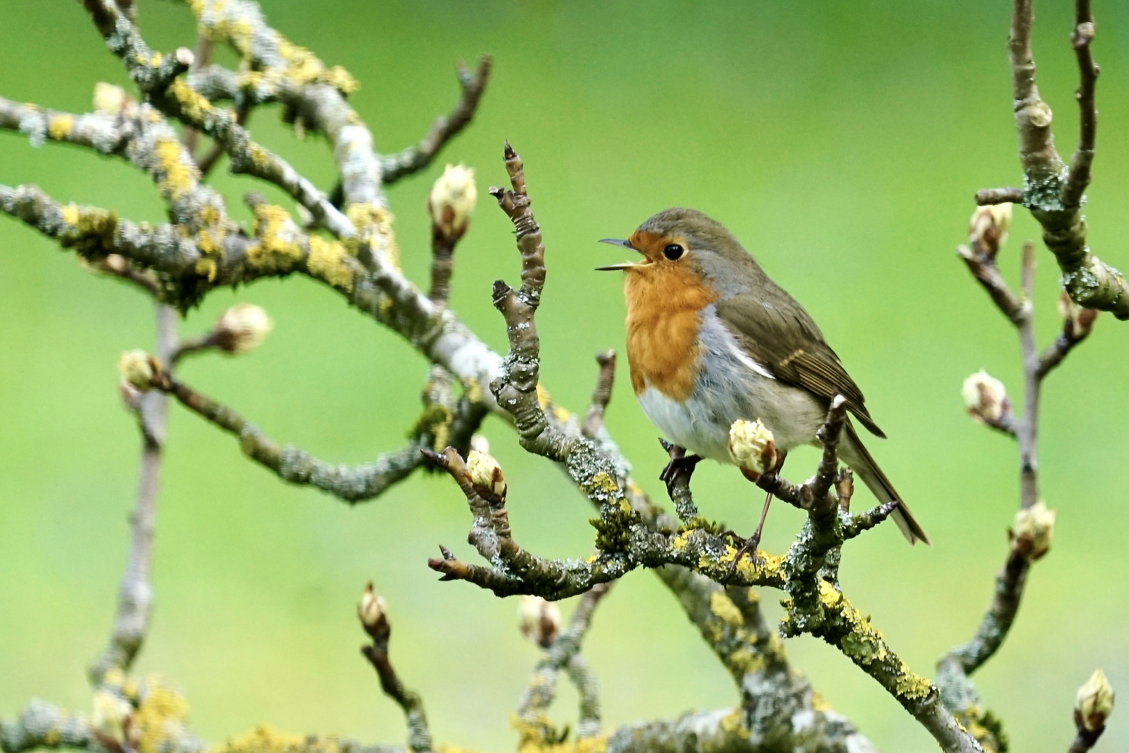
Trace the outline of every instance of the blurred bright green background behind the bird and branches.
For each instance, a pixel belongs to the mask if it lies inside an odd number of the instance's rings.
[[[1059,143],[1077,128],[1066,0],[1039,3],[1040,85]],[[1019,180],[1010,120],[1005,0],[902,3],[360,2],[264,0],[295,42],[347,67],[353,104],[393,151],[414,143],[455,102],[453,65],[495,55],[475,122],[426,173],[388,192],[406,272],[426,282],[425,198],[441,163],[478,170],[483,201],[458,248],[453,307],[504,348],[490,282],[516,279],[510,227],[484,189],[505,182],[501,143],[526,160],[548,246],[539,314],[543,378],[583,409],[593,353],[622,350],[619,261],[597,238],[623,236],[653,212],[695,207],[724,221],[821,323],[891,437],[873,450],[935,541],[910,550],[883,526],[852,544],[842,580],[855,603],[912,667],[965,640],[988,603],[1017,499],[1013,443],[974,426],[959,389],[987,368],[1018,387],[1010,326],[953,254],[974,190]],[[1096,3],[1101,132],[1087,214],[1092,244],[1129,265],[1129,9]],[[192,44],[178,3],[140,2],[157,49]],[[76,3],[7,0],[0,8],[0,93],[89,110],[95,81],[126,84]],[[229,53],[220,61],[234,63]],[[332,163],[320,138],[300,140],[262,108],[253,134],[323,187]],[[77,148],[0,134],[0,181],[34,182],[61,200],[160,220],[148,181]],[[244,191],[280,194],[217,170],[215,185],[244,218]],[[1038,237],[1016,216],[1001,265]],[[1057,270],[1040,252],[1038,330],[1058,327]],[[269,436],[356,463],[401,446],[418,410],[423,360],[396,336],[305,279],[218,291],[192,312],[200,331],[226,306],[263,305],[277,327],[236,359],[207,357],[182,375]],[[977,675],[1014,750],[1065,750],[1075,689],[1096,666],[1129,692],[1129,561],[1124,554],[1129,330],[1109,316],[1047,382],[1042,491],[1059,509],[1051,554],[1035,567],[1019,619]],[[73,255],[0,219],[0,715],[32,697],[88,709],[85,667],[103,647],[125,559],[138,436],[119,404],[120,351],[152,340],[150,305],[97,279]],[[656,431],[621,377],[607,423],[637,478],[663,498]],[[525,455],[499,420],[485,424],[510,485],[523,544],[585,554],[587,502],[545,462]],[[506,750],[537,650],[515,627],[514,599],[437,583],[425,562],[464,543],[469,515],[446,479],[418,474],[350,508],[288,487],[243,458],[231,437],[174,405],[155,550],[156,608],[138,669],[189,697],[194,728],[221,741],[261,723],[292,732],[401,742],[358,647],[353,606],[368,579],[386,596],[393,656],[419,690],[438,741]],[[789,464],[800,474],[814,453]],[[730,470],[694,478],[703,511],[751,529],[759,498]],[[869,498],[865,492],[859,505]],[[779,506],[765,542],[780,551],[799,525]],[[774,610],[776,594],[765,594]],[[571,606],[566,604],[566,613]],[[773,611],[773,614],[777,612]],[[841,655],[804,637],[796,666],[887,751],[936,750],[929,736]],[[656,578],[624,578],[601,607],[586,654],[603,684],[607,727],[724,707],[736,694]],[[555,713],[571,718],[575,695]],[[1114,713],[1099,750],[1129,744]]]

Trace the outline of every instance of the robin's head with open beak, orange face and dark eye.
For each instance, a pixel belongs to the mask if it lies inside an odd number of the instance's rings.
[[[724,297],[747,290],[763,274],[725,226],[693,209],[666,209],[625,240],[604,238],[601,243],[642,255],[639,261],[596,268],[623,270],[629,283],[638,277],[663,287],[704,284]]]

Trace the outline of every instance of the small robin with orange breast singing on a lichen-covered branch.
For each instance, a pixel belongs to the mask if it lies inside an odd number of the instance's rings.
[[[815,321],[720,222],[697,210],[667,209],[627,239],[601,243],[642,256],[597,270],[624,272],[631,387],[669,443],[698,456],[684,459],[733,464],[730,426],[760,420],[781,452],[779,467],[789,449],[819,445],[816,430],[837,395],[854,420],[885,438]],[[898,502],[891,517],[907,541],[931,545],[851,418],[839,457],[879,502]],[[664,480],[669,472],[668,465]],[[754,557],[770,500],[750,539]]]

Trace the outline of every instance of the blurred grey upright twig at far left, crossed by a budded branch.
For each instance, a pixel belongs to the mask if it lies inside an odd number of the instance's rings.
[[[159,359],[167,361],[176,349],[177,315],[168,306],[157,304],[156,319],[156,353]],[[106,672],[112,668],[129,671],[149,630],[149,611],[152,604],[149,570],[152,562],[152,533],[160,489],[160,456],[165,444],[168,397],[164,393],[151,391],[141,395],[138,402],[141,465],[138,471],[137,502],[130,517],[130,553],[117,592],[117,614],[110,645],[90,667],[90,680],[95,685],[102,684]]]

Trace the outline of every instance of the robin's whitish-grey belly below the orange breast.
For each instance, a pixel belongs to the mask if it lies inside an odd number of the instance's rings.
[[[782,450],[815,441],[826,413],[823,404],[806,389],[782,384],[752,364],[712,306],[702,312],[699,334],[706,348],[691,396],[680,403],[649,384],[639,394],[644,413],[669,441],[730,463],[729,427],[738,419],[760,420]]]

